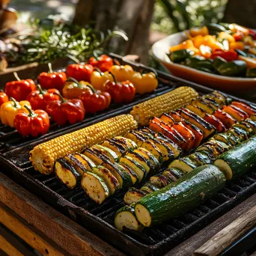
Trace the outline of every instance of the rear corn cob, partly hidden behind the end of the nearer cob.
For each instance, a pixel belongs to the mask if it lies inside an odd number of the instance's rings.
[[[195,97],[198,97],[198,93],[193,88],[183,86],[134,106],[130,114],[138,124],[147,125],[150,118],[159,117],[164,112],[180,108]]]

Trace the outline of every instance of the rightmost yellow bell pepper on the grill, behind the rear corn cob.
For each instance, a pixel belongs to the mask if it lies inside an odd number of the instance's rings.
[[[137,94],[146,94],[155,90],[158,86],[158,80],[153,72],[139,73],[135,72],[129,80],[135,86]]]

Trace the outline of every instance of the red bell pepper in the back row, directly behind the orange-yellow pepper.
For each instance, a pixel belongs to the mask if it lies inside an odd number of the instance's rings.
[[[73,77],[78,82],[90,82],[94,67],[91,64],[70,64],[67,66],[67,77]]]

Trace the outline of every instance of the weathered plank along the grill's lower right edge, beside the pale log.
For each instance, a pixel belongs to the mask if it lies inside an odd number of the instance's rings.
[[[176,246],[170,252],[168,252],[165,256],[190,256],[199,246],[203,245],[207,240],[233,222],[235,219],[242,216],[246,213],[247,210],[255,207],[256,205],[256,194],[252,195],[247,200],[243,201],[243,203],[237,205],[232,210],[230,210],[225,215],[221,216],[219,219],[216,219],[215,222],[212,222],[206,228],[199,231],[194,236],[190,237],[185,242],[181,243],[179,246]]]

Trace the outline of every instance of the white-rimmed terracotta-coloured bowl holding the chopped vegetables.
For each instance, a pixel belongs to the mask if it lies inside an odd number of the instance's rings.
[[[186,34],[180,32],[157,41],[152,46],[154,58],[160,61],[174,76],[222,91],[243,94],[249,93],[249,91],[256,92],[256,78],[220,76],[172,62],[167,56],[170,46],[175,46],[187,39]]]

